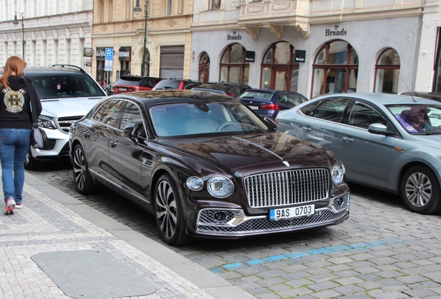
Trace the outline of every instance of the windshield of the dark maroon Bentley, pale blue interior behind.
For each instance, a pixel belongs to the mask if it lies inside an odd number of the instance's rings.
[[[150,108],[158,136],[273,132],[241,102],[184,102]]]

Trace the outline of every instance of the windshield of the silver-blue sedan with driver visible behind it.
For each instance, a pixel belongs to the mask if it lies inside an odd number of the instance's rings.
[[[441,134],[441,105],[390,105],[388,109],[412,134]]]

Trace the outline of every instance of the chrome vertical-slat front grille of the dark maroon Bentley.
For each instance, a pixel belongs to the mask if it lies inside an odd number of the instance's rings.
[[[329,172],[320,168],[248,176],[245,190],[252,208],[317,201],[328,197]]]

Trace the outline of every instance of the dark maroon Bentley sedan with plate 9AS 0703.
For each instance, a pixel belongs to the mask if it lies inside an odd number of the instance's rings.
[[[207,91],[140,91],[99,102],[71,125],[78,191],[102,183],[150,211],[160,235],[239,238],[349,217],[334,154],[275,130],[240,100]]]

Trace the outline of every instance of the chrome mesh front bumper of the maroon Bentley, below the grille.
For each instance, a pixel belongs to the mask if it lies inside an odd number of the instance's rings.
[[[246,216],[239,209],[206,208],[198,213],[196,235],[234,238],[334,225],[349,217],[349,197],[350,193],[346,192],[332,198],[329,206],[316,209],[313,215],[279,221],[270,221],[268,215]],[[219,212],[227,216],[219,220],[216,217]]]

